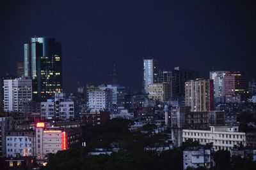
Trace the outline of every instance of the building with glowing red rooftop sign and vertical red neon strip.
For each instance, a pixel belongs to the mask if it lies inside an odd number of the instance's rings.
[[[57,153],[68,149],[67,132],[56,127],[46,127],[44,122],[35,123],[36,157],[45,159],[48,153]]]

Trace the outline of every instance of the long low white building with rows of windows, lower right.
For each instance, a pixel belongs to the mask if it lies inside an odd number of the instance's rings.
[[[193,139],[199,141],[201,145],[212,143],[214,150],[230,150],[240,143],[246,146],[246,136],[244,132],[238,132],[237,126],[210,126],[211,131],[182,130],[182,140]]]

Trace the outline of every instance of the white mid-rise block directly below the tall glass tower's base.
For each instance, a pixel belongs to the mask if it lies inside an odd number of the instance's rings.
[[[75,117],[74,102],[67,101],[64,94],[55,94],[55,99],[48,99],[47,102],[41,102],[42,119],[72,119]]]

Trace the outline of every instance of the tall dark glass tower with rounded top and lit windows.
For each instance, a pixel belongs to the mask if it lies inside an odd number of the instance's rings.
[[[33,100],[46,101],[62,92],[61,43],[31,38],[24,44],[24,75],[33,80]]]

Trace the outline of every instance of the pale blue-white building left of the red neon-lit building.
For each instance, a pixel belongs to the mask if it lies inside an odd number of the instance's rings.
[[[35,131],[10,131],[6,133],[6,157],[19,153],[35,156]]]

